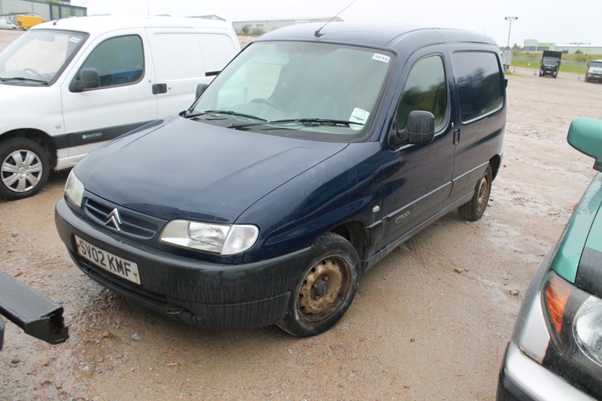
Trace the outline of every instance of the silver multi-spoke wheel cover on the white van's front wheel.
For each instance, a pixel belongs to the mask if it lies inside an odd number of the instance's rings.
[[[42,179],[42,161],[31,150],[19,149],[8,155],[0,167],[4,185],[13,192],[31,191]]]

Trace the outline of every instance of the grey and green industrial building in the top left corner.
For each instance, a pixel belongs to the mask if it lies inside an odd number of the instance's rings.
[[[40,16],[45,21],[87,15],[87,8],[71,5],[71,0],[0,0],[0,19],[14,23],[17,14]]]

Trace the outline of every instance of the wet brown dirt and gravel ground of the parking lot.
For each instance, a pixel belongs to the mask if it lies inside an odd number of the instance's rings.
[[[55,231],[66,172],[33,198],[0,201],[0,269],[62,302],[70,333],[49,346],[7,322],[0,399],[494,399],[523,294],[594,176],[592,159],[566,144],[569,123],[602,118],[602,85],[573,74],[519,69],[507,94],[485,216],[449,213],[389,254],[317,337],[203,330],[88,280]]]

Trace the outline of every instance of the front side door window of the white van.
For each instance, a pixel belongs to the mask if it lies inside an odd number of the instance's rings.
[[[103,41],[90,53],[82,69],[95,69],[101,76],[101,88],[135,84],[144,73],[144,52],[138,35]]]

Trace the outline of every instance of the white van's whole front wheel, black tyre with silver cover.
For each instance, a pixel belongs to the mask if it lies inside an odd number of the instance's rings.
[[[0,141],[0,197],[31,197],[48,181],[50,162],[45,150],[25,138]]]

